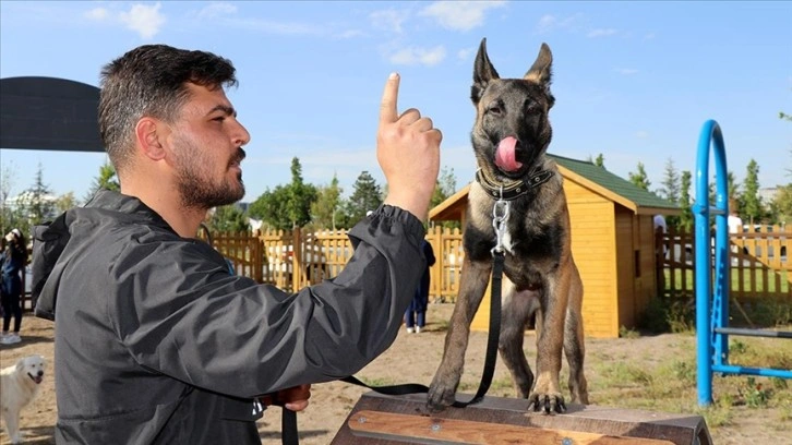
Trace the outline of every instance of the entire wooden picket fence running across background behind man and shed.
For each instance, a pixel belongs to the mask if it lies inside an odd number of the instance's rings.
[[[763,229],[764,228],[764,229]],[[346,230],[303,232],[202,232],[215,249],[228,257],[239,275],[266,282],[287,291],[297,291],[322,279],[338,275],[351,258],[352,244]],[[430,301],[454,302],[459,290],[465,255],[459,229],[434,227],[427,233],[436,262],[431,268]],[[694,234],[670,230],[658,236],[664,251],[658,262],[664,277],[661,292],[670,298],[693,298],[696,257]],[[731,292],[733,298],[749,302],[776,299],[792,303],[792,226],[761,226],[730,233]],[[715,245],[715,242],[711,243]],[[24,279],[24,278],[23,278]],[[29,294],[23,308],[32,309]]]

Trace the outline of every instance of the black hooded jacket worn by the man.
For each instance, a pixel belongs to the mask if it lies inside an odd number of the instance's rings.
[[[57,443],[261,443],[254,397],[351,375],[391,346],[423,236],[382,206],[350,230],[336,278],[289,294],[100,191],[35,231],[36,314],[56,322]]]

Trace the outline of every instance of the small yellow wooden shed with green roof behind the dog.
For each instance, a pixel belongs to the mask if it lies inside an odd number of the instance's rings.
[[[635,327],[658,294],[655,215],[681,209],[591,163],[549,155],[564,178],[572,222],[572,252],[584,285],[583,318],[589,337],[619,337]],[[470,184],[432,208],[430,221],[465,227]],[[489,326],[489,292],[472,328]]]

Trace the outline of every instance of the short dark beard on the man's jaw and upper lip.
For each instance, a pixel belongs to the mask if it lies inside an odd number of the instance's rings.
[[[241,163],[244,159],[244,151],[239,148],[237,156],[228,163],[230,168],[233,161]],[[203,166],[191,159],[182,163],[179,171],[178,188],[181,195],[181,204],[185,208],[209,209],[223,205],[233,204],[244,196],[244,183],[240,172],[236,181],[224,178],[219,184],[213,184],[206,178]]]

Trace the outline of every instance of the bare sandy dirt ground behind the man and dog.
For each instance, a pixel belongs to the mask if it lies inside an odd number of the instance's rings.
[[[420,334],[407,334],[404,329],[394,345],[383,356],[362,370],[358,377],[372,384],[420,383],[429,385],[436,371],[443,353],[445,326],[453,305],[431,304],[429,308],[429,324]],[[27,444],[53,444],[53,426],[57,418],[55,401],[55,381],[52,378],[52,323],[28,315],[23,321],[23,341],[12,346],[0,346],[0,364],[4,368],[13,364],[19,358],[39,353],[48,361],[47,377],[36,400],[22,412],[22,431]],[[526,349],[533,350],[533,333],[526,334]],[[679,348],[693,348],[695,345],[691,336],[681,338],[680,335],[647,336],[635,339],[588,339],[586,341],[587,356],[619,358],[627,350],[649,351],[651,360],[662,361],[680,353]],[[485,333],[472,333],[466,359],[466,369],[463,385],[477,387],[483,366],[483,356],[487,347]],[[532,359],[529,362],[532,363]],[[615,359],[619,360],[619,359]],[[647,363],[647,366],[651,366]],[[507,378],[505,366],[499,362],[494,382]],[[597,405],[598,378],[589,373],[589,389],[591,402]],[[311,405],[305,411],[298,414],[301,443],[329,444],[336,432],[346,421],[352,407],[367,389],[346,383],[333,382],[312,387]],[[466,393],[472,393],[466,390]],[[501,389],[504,392],[506,389]],[[507,390],[511,392],[511,390]],[[490,392],[491,395],[492,390]],[[500,394],[497,394],[500,396]],[[506,394],[504,394],[506,395]],[[568,396],[568,395],[567,395]],[[689,395],[695,397],[694,392]],[[792,444],[792,433],[784,432],[777,424],[778,416],[763,410],[745,411],[735,416],[735,421],[728,426],[711,428],[710,433],[716,444]],[[260,432],[265,444],[279,443],[280,410],[268,409],[260,421]],[[9,436],[3,430],[0,432],[0,444],[8,444]]]

